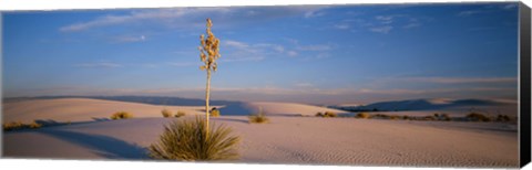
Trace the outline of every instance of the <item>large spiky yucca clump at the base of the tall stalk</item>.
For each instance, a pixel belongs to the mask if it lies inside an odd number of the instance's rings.
[[[237,159],[241,138],[231,132],[231,128],[212,126],[207,137],[204,118],[174,120],[164,127],[160,140],[149,147],[150,157],[184,161]]]

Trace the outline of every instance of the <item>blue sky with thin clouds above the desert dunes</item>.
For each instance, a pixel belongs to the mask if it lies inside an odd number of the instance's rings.
[[[212,18],[214,99],[514,100],[516,4],[4,12],[3,95],[203,98],[197,46]]]

